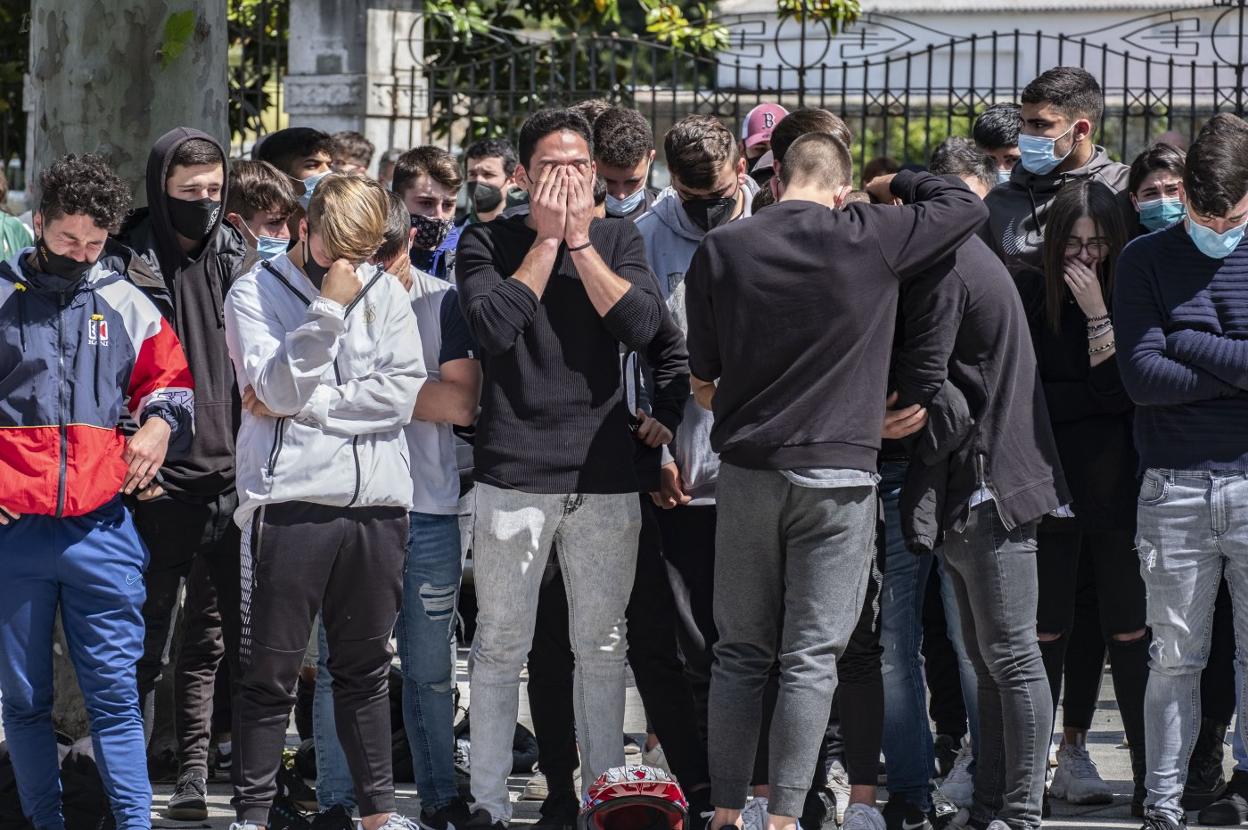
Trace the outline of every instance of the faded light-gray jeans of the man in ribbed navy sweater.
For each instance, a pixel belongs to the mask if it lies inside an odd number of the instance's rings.
[[[1238,645],[1236,725],[1248,739],[1248,476],[1149,469],[1139,489],[1136,547],[1153,630],[1144,694],[1144,804],[1178,819],[1223,572]]]

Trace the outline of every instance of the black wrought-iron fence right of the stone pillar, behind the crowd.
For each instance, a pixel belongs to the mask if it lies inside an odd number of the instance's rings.
[[[1221,39],[1216,52],[1204,50],[1208,60],[1184,60],[1186,50],[1178,47],[1164,57],[1164,42],[1132,51],[1086,36],[1018,30],[871,56],[867,26],[834,35],[820,24],[795,24],[759,34],[758,15],[726,20],[733,42],[718,57],[618,34],[527,42],[495,32],[478,35],[472,51],[459,52],[443,49],[426,19],[427,60],[401,84],[413,102],[407,117],[423,120],[426,135],[452,149],[487,135],[514,139],[529,112],[588,97],[639,109],[656,135],[691,112],[735,125],[755,104],[779,101],[840,115],[855,134],[860,161],[882,155],[906,164],[924,162],[948,135],[968,134],[991,104],[1017,101],[1043,70],[1078,65],[1102,84],[1098,141],[1129,161],[1163,131],[1191,139],[1216,112],[1244,115],[1244,5],[1246,0],[1208,4],[1224,7],[1218,31],[1208,32]],[[1172,27],[1176,46],[1186,44],[1179,39],[1191,32]],[[1171,36],[1168,31],[1158,26],[1158,37]],[[855,37],[861,39],[857,49]],[[867,56],[830,60],[834,40],[841,54]]]

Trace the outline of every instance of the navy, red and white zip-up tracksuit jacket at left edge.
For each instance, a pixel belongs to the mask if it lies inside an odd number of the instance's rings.
[[[97,262],[74,288],[49,290],[26,248],[0,263],[0,505],[84,515],[117,497],[129,466],[124,411],[193,429],[182,344],[147,297]]]

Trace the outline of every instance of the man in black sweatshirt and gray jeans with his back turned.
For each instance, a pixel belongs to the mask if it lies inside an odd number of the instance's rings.
[[[840,140],[802,136],[773,185],[780,202],[710,232],[686,275],[689,363],[721,458],[711,830],[741,821],[776,662],[769,826],[796,826],[875,553],[899,283],[985,218],[970,191],[926,173],[894,178],[915,202],[904,208],[835,210],[851,176]]]

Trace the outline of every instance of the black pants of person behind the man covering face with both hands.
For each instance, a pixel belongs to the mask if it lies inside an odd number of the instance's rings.
[[[663,744],[671,771],[686,789],[709,784],[706,746],[698,731],[694,695],[676,652],[671,589],[660,555],[659,528],[641,497],[636,575],[628,604],[628,662],[646,718]],[[554,555],[552,554],[552,563]],[[529,711],[538,739],[538,766],[552,793],[574,791],[577,743],[573,725],[568,639],[568,595],[555,564],[543,574],[537,628],[529,652]]]

